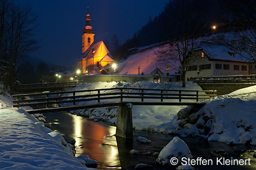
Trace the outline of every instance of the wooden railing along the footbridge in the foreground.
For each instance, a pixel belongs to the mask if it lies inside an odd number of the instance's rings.
[[[216,90],[166,90],[166,89],[138,89],[138,88],[110,88],[91,89],[69,92],[31,93],[13,95],[14,107],[46,106],[78,102],[184,102],[209,99],[217,96]],[[171,101],[170,101],[171,100]]]

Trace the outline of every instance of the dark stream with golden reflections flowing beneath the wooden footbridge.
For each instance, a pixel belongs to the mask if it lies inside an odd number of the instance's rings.
[[[47,127],[64,134],[66,140],[76,140],[76,156],[89,155],[91,159],[97,160],[97,169],[134,169],[139,163],[153,165],[152,169],[176,168],[155,165],[158,156],[152,155],[154,152],[160,152],[175,135],[135,130],[133,140],[125,140],[114,136],[116,127],[108,122],[93,122],[86,117],[64,111],[44,113],[44,116],[47,123],[51,123]],[[138,136],[150,139],[151,143],[137,143]],[[193,165],[195,169],[256,169],[254,152],[249,151],[256,148],[254,146],[228,146],[222,142],[209,142],[201,137],[179,138],[187,143],[193,159],[203,157],[203,159],[213,160],[213,165]],[[141,154],[130,155],[129,152],[133,149]],[[225,152],[215,152],[219,150]],[[216,165],[216,158],[222,156],[226,159],[250,158],[250,165]]]

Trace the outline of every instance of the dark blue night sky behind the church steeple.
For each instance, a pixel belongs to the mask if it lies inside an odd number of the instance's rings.
[[[167,0],[15,0],[29,5],[39,16],[37,38],[40,49],[31,53],[43,61],[65,66],[82,59],[81,35],[89,6],[94,42],[109,42],[117,34],[122,44],[132,38],[151,16],[155,18]]]

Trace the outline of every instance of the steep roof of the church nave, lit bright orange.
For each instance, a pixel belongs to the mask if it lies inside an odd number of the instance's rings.
[[[114,61],[103,41],[90,45],[90,47],[82,54],[82,57],[82,60],[88,60],[93,57],[104,57],[104,61]]]

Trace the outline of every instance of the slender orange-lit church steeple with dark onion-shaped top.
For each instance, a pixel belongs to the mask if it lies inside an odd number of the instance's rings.
[[[84,53],[86,49],[88,49],[90,45],[94,42],[94,34],[92,26],[90,26],[89,7],[87,7],[86,26],[84,27],[83,32],[84,34],[82,35],[82,53]]]

